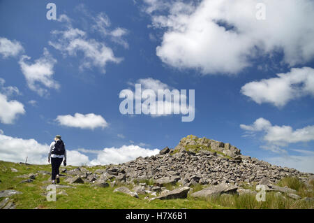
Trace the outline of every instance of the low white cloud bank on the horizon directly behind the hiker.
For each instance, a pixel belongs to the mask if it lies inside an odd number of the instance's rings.
[[[0,134],[0,159],[4,161],[29,164],[48,164],[49,145],[38,143],[35,139],[13,138]],[[68,165],[80,166],[89,164],[89,158],[75,150],[67,149]]]

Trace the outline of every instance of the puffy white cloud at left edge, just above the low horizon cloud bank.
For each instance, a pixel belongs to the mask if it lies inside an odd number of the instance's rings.
[[[8,97],[0,93],[0,122],[13,124],[18,115],[25,113],[24,105],[19,101],[8,101]]]

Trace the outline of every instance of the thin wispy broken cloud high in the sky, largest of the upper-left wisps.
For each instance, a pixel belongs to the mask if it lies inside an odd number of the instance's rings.
[[[98,31],[107,32],[105,26],[109,19],[103,14],[99,14],[96,20],[96,25],[92,26]],[[96,41],[96,39],[89,38],[86,31],[81,29],[73,28],[70,19],[66,15],[61,15],[59,22],[66,22],[66,29],[52,31],[52,35],[55,41],[49,41],[52,47],[60,50],[64,56],[70,55],[73,57],[77,56],[77,52],[81,52],[84,57],[81,60],[80,69],[91,69],[92,67],[98,67],[103,73],[105,73],[105,66],[108,62],[119,64],[122,58],[115,57],[113,50],[105,45],[103,41]],[[103,28],[103,29],[102,29]],[[121,38],[124,34],[120,32],[114,32],[117,35],[117,41],[121,44],[127,44]]]

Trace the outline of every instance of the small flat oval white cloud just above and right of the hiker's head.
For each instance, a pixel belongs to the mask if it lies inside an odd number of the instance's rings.
[[[105,128],[108,126],[108,123],[103,117],[101,117],[101,115],[95,115],[94,113],[89,113],[87,115],[75,113],[74,116],[58,115],[56,121],[63,126],[80,129],[95,129],[98,127]]]

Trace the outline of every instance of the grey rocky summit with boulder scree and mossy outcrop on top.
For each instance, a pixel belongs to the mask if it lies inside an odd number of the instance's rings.
[[[133,161],[108,169],[106,174],[124,177],[125,182],[154,180],[160,187],[169,183],[181,185],[218,185],[220,183],[276,183],[285,177],[307,182],[311,173],[294,168],[274,166],[266,161],[241,154],[230,143],[208,138],[187,136],[174,148],[164,148],[160,154],[138,157]]]

